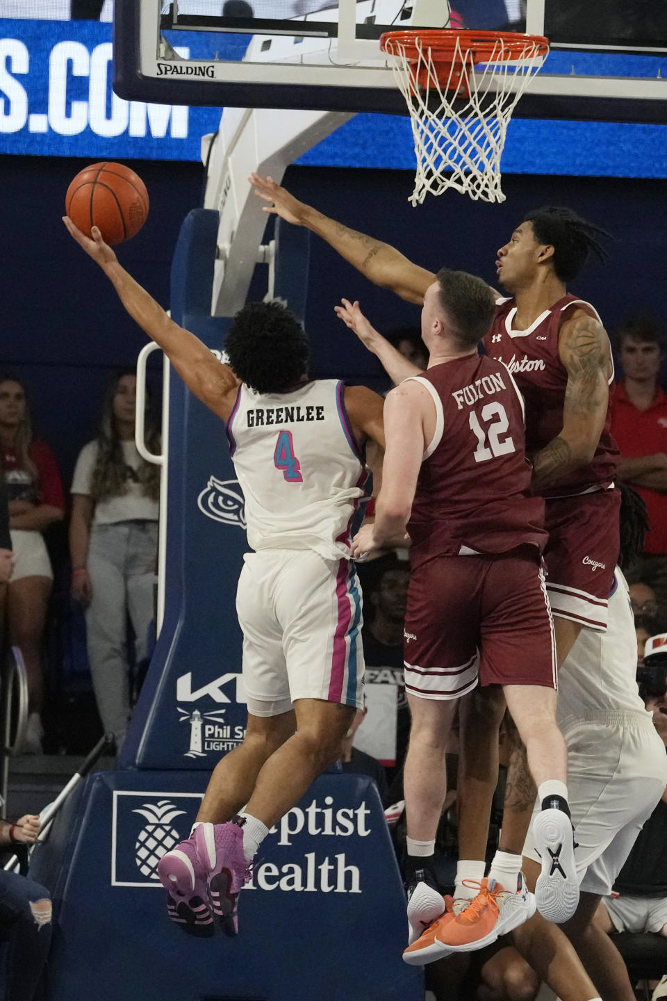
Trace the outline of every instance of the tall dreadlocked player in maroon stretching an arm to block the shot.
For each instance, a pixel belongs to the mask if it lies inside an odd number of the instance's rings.
[[[376,284],[409,301],[423,301],[432,272],[389,244],[297,201],[269,178],[253,174],[251,181],[272,203],[265,211],[307,226]],[[547,498],[544,560],[559,664],[584,626],[604,630],[618,554],[619,498],[612,488],[618,450],[609,434],[611,348],[593,307],[569,295],[565,284],[591,251],[602,255],[600,232],[567,209],[530,213],[498,251],[498,280],[513,298],[498,301],[484,339],[488,352],[512,370],[526,398],[533,488]],[[343,310],[356,322],[354,306],[344,303]],[[369,323],[357,324],[356,332],[395,382],[415,372]],[[466,895],[464,879],[484,872],[488,814],[482,811],[490,802],[488,787],[496,784],[502,712],[502,700],[492,690],[477,690],[462,703],[459,790],[467,806],[459,818],[457,896]],[[474,730],[474,739],[465,739],[468,730]],[[523,842],[521,825],[521,813],[506,809],[504,829],[514,844]],[[491,873],[509,881],[519,868],[520,855],[497,853]]]

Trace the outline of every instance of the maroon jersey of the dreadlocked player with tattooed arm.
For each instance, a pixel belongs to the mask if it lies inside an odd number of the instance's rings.
[[[499,299],[495,319],[484,338],[487,352],[507,365],[526,401],[526,451],[529,455],[543,448],[563,429],[567,369],[558,353],[558,331],[563,313],[572,307],[600,319],[589,302],[567,293],[538,316],[527,330],[514,330],[516,302],[513,298]],[[613,371],[609,382],[613,384]],[[611,390],[607,418],[592,462],[573,469],[546,487],[537,487],[539,492],[545,497],[570,496],[608,487],[620,460],[610,426]]]

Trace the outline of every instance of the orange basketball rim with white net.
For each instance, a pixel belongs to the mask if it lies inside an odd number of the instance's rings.
[[[548,39],[500,31],[388,31],[380,48],[410,112],[417,156],[413,205],[449,187],[500,202],[500,157],[517,101]]]

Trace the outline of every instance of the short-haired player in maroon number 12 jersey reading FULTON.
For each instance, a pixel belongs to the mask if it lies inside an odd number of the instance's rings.
[[[578,900],[567,807],[567,753],[556,725],[551,612],[540,554],[544,502],[530,493],[523,401],[507,369],[480,356],[494,313],[481,278],[439,271],[426,290],[422,338],[426,372],[401,383],[385,402],[387,451],[375,523],[362,527],[353,554],[386,546],[406,528],[412,541],[405,618],[405,687],[411,731],[404,789],[408,917],[417,939],[406,962],[425,963],[442,947],[495,941],[534,913],[517,874],[511,883],[481,879],[475,903],[448,910],[419,937],[442,897],[426,878],[447,777],[445,750],[459,698],[502,686],[528,751],[544,810],[534,836],[545,861],[557,844],[569,877],[540,877],[543,913],[565,920]],[[350,307],[347,317],[355,318]],[[425,916],[426,915],[426,916]],[[470,929],[481,936],[471,939]]]

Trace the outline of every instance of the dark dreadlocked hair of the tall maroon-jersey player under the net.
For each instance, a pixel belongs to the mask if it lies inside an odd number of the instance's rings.
[[[603,263],[609,257],[600,237],[611,238],[611,234],[577,215],[571,208],[545,205],[528,212],[523,221],[532,224],[538,243],[546,243],[554,248],[554,271],[561,281],[568,282],[576,278],[583,270],[591,251]]]

